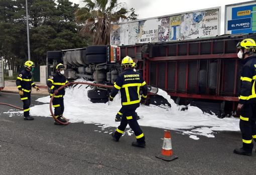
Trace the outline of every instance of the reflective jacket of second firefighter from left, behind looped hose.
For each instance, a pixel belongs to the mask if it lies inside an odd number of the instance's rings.
[[[51,89],[50,96],[53,95],[54,91],[61,86],[67,84],[68,81],[66,80],[66,77],[64,75],[61,75],[60,73],[56,73],[55,75],[51,76],[47,80],[47,86]],[[63,97],[65,95],[65,89],[61,89],[57,95],[54,96],[54,98]]]

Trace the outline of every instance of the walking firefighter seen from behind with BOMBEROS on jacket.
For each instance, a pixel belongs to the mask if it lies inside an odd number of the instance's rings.
[[[134,61],[131,57],[126,56],[122,59],[121,66],[124,69],[124,72],[117,77],[109,96],[109,100],[112,101],[120,90],[123,109],[121,123],[116,131],[112,133],[112,137],[115,141],[119,141],[127,124],[129,124],[137,138],[137,141],[134,141],[132,145],[145,147],[145,136],[137,122],[135,110],[140,106],[140,101],[145,103],[148,87],[142,75],[133,70],[133,65]],[[140,100],[140,87],[142,87],[143,91],[142,100]]]

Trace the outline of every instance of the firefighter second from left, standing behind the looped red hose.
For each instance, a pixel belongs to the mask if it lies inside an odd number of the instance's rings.
[[[61,122],[65,123],[66,120],[62,117],[64,112],[64,95],[65,89],[61,89],[60,91],[58,88],[68,83],[66,77],[64,76],[65,66],[63,64],[58,64],[56,66],[56,74],[51,76],[47,80],[47,86],[51,89],[50,97],[52,97],[53,93],[55,96],[53,98],[52,104],[54,107],[54,115],[55,117],[60,120]],[[62,125],[56,121],[54,121],[56,125]]]

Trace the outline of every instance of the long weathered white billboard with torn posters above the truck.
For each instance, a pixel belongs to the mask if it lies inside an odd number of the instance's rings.
[[[118,26],[118,27],[116,27]],[[156,17],[113,25],[111,44],[170,42],[215,37],[220,31],[220,8]]]

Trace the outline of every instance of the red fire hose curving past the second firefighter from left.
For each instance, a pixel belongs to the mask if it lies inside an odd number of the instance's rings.
[[[87,83],[87,82],[71,82],[71,83],[67,83],[63,86],[61,86],[58,90],[61,90],[67,86],[69,86],[70,84],[86,84],[86,85],[91,85],[91,86],[99,86],[99,87],[105,87],[105,88],[112,88],[113,86],[109,86],[109,85],[103,85],[103,84],[96,84],[96,83]],[[54,120],[60,124],[63,124],[63,125],[67,125],[69,124],[69,121],[68,119],[66,119],[65,117],[63,117],[67,122],[61,122],[60,120],[58,120],[55,116],[54,116],[54,112],[52,110],[52,100],[55,96],[55,93],[53,93],[52,97],[51,97],[51,100],[50,100],[50,111],[51,111],[51,114],[52,114],[52,117],[54,118]]]

